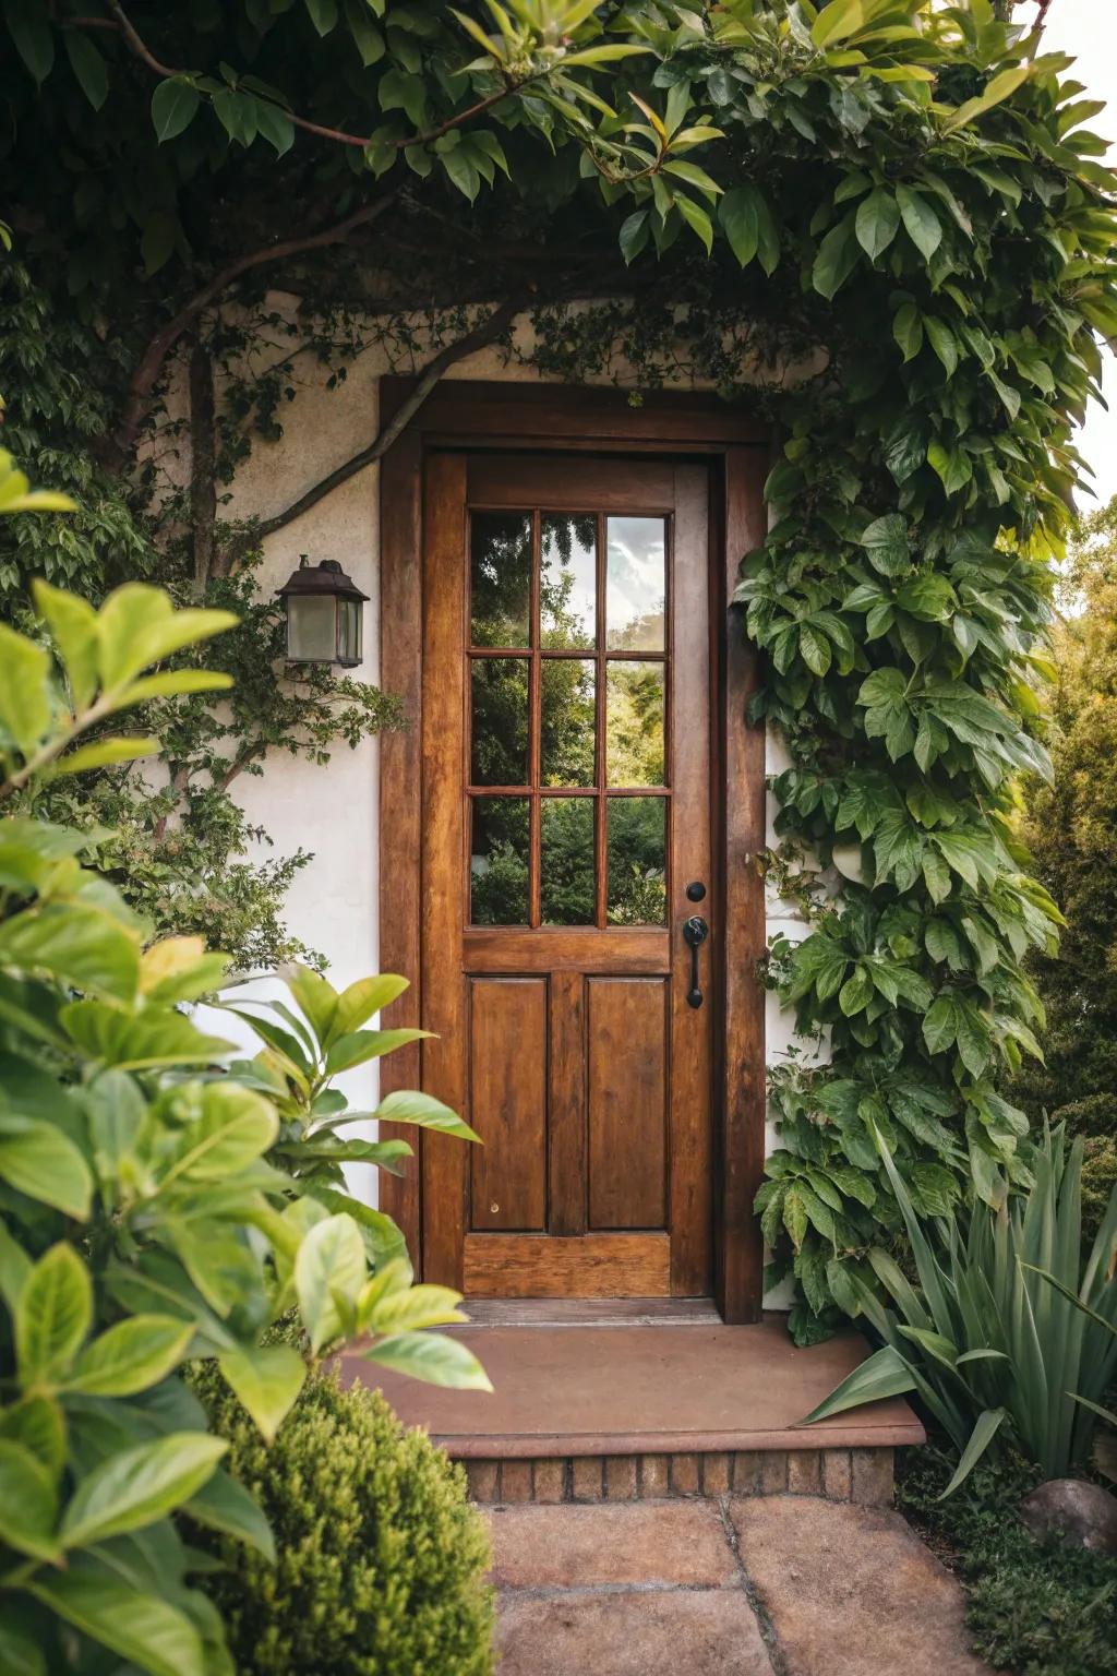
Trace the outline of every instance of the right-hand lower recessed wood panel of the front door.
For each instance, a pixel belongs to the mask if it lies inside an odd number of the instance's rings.
[[[589,1227],[667,1227],[667,982],[588,984]]]

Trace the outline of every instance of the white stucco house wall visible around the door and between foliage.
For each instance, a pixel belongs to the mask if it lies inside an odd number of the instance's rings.
[[[286,300],[271,302],[283,307]],[[524,327],[521,330],[526,332]],[[295,370],[298,377],[298,364]],[[350,367],[347,380],[328,391],[325,375],[306,369],[296,401],[280,414],[283,437],[276,442],[256,441],[251,459],[238,469],[233,499],[224,515],[266,518],[372,441],[378,429],[380,377],[387,370],[383,352],[368,350]],[[459,362],[447,377],[538,380],[533,369],[506,364],[497,350],[482,350]],[[350,478],[303,518],[268,538],[258,572],[261,590],[280,587],[303,551],[315,563],[323,558],[338,560],[370,597],[365,607],[365,660],[353,674],[357,679],[378,680],[378,466]],[[779,773],[785,766],[775,737],[767,741],[767,761],[769,773]],[[250,820],[271,835],[275,848],[268,853],[285,855],[300,846],[313,851],[313,861],[296,875],[291,887],[286,922],[296,937],[327,955],[330,980],[337,987],[375,972],[378,965],[377,858],[382,811],[377,769],[378,742],[368,739],[355,751],[337,747],[328,768],[276,753],[268,759],[261,778],[241,776],[234,786]],[[383,818],[390,818],[390,811],[383,811]],[[769,935],[777,932],[799,939],[806,927],[792,903],[769,897]],[[253,985],[253,992],[265,996],[271,987],[261,980]],[[234,1034],[229,1022],[236,1021],[228,1016],[208,1022],[226,1036]],[[246,1031],[241,1039],[248,1046]],[[780,1012],[775,997],[769,994],[769,1063],[787,1053],[790,1039],[790,1017]],[[342,1086],[355,1108],[375,1106],[375,1066],[348,1073]],[[368,1133],[375,1130],[370,1128]],[[770,1125],[767,1145],[772,1150]],[[375,1202],[373,1170],[357,1166],[352,1187],[360,1197]],[[769,1302],[779,1307],[782,1297]]]

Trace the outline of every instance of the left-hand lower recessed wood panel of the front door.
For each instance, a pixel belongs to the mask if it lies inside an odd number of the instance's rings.
[[[548,1193],[548,984],[484,977],[469,985],[469,1121],[474,1230],[541,1230]]]

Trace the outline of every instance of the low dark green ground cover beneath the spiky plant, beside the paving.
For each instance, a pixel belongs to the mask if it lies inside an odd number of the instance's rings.
[[[1020,1456],[986,1458],[943,1502],[951,1468],[904,1450],[896,1502],[966,1591],[975,1651],[1011,1676],[1117,1676],[1117,1560],[1025,1530],[1015,1508],[1040,1473]]]

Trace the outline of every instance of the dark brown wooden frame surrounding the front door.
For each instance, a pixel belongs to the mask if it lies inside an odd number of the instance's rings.
[[[414,389],[380,382],[380,422]],[[713,1294],[728,1322],[759,1321],[762,1242],[752,1200],[764,1173],[764,882],[757,856],[765,833],[764,727],[745,707],[757,684],[757,655],[727,600],[740,555],[765,535],[762,486],[770,437],[713,396],[653,394],[630,407],[616,389],[454,379],[440,384],[404,427],[380,466],[380,685],[399,694],[409,726],[380,736],[380,970],[402,972],[410,989],[385,1012],[392,1026],[420,1022],[422,935],[422,494],[430,449],[589,451],[673,454],[710,471],[710,568],[715,582],[717,726],[713,747],[715,878],[710,910],[723,950],[713,1081]],[[387,1094],[419,1088],[419,1046],[380,1063]],[[400,1225],[422,1274],[422,1136],[405,1177],[380,1175],[382,1205]]]

